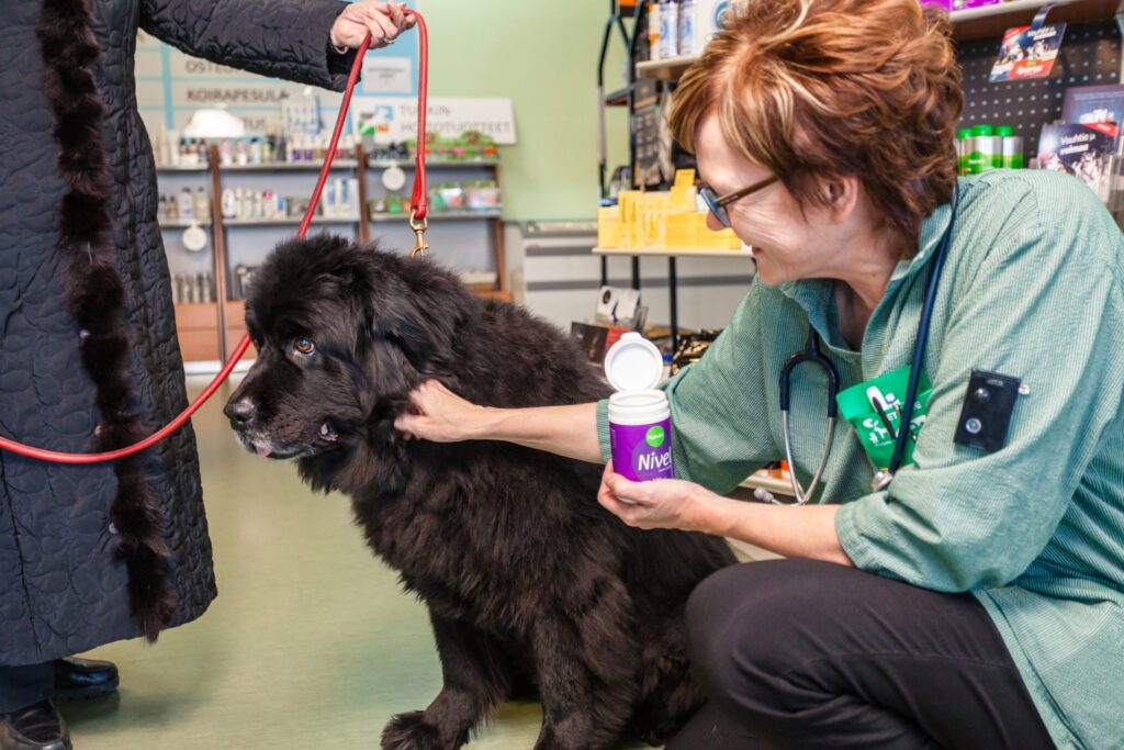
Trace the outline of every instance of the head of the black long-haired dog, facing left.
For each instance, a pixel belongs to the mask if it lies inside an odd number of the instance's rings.
[[[326,235],[282,243],[246,299],[257,360],[224,414],[273,459],[398,440],[409,391],[451,369],[468,299],[429,262]]]

